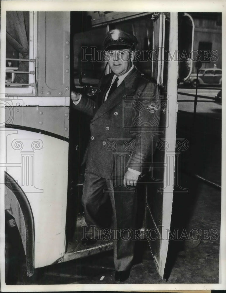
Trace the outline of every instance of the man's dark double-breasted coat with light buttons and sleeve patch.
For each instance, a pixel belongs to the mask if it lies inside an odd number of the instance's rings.
[[[135,67],[103,103],[113,76],[103,76],[96,100],[82,97],[75,106],[92,117],[86,169],[106,179],[123,177],[128,167],[144,170],[156,146],[161,112],[157,84]]]

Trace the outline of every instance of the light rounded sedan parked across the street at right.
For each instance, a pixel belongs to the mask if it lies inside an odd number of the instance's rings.
[[[221,85],[221,69],[219,68],[206,68],[199,69],[198,73],[198,86],[199,85]],[[196,73],[192,73],[189,79],[184,81],[184,84],[190,84],[192,87],[196,87]]]

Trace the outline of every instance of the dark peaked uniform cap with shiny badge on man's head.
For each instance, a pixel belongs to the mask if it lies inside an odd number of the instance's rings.
[[[103,45],[105,50],[134,49],[137,45],[137,38],[123,30],[114,29],[106,34]]]

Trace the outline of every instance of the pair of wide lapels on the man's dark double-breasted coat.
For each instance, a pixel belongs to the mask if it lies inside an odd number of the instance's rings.
[[[92,121],[96,120],[109,110],[111,110],[115,105],[121,102],[123,97],[125,95],[129,95],[132,92],[135,91],[135,88],[133,87],[134,80],[137,76],[137,69],[134,67],[132,71],[125,77],[123,82],[116,88],[116,90],[108,96],[107,100],[99,107],[99,109],[96,111],[96,114],[94,115]],[[111,76],[108,81],[106,81],[106,84],[102,87],[101,86],[101,91],[99,92],[99,98],[103,98],[103,94],[105,95],[108,86],[111,84],[111,79],[113,76]],[[110,84],[109,84],[110,83]],[[98,98],[98,101],[99,101]]]

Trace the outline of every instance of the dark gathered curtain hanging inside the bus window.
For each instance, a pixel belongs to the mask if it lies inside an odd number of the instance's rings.
[[[29,11],[6,12],[6,39],[23,59],[29,59]],[[20,61],[18,71],[29,71],[29,62]],[[27,84],[29,74],[15,74],[14,82]]]

